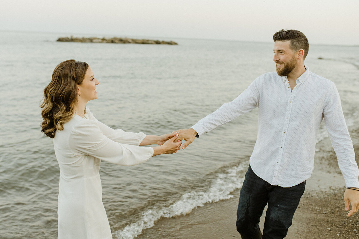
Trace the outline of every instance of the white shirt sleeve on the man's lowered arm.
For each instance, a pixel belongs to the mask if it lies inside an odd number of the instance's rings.
[[[353,142],[345,124],[339,93],[334,83],[328,90],[323,118],[338,159],[340,171],[344,176],[346,187],[359,187],[359,170],[355,162]]]

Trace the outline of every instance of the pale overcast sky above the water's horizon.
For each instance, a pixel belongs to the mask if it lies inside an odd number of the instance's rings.
[[[359,45],[359,0],[1,0],[0,30]]]

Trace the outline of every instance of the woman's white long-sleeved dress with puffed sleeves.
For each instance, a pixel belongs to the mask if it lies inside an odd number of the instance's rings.
[[[58,239],[112,238],[102,203],[101,160],[131,166],[153,155],[151,147],[138,146],[144,133],[114,130],[86,112],[84,118],[74,115],[53,139],[60,166]]]

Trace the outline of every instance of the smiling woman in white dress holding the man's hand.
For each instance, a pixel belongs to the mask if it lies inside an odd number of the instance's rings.
[[[86,104],[99,84],[85,62],[61,62],[44,90],[42,132],[53,138],[60,166],[58,238],[112,238],[102,203],[101,160],[132,166],[163,153],[176,153],[177,134],[161,136],[113,130]],[[157,147],[139,147],[158,144]]]

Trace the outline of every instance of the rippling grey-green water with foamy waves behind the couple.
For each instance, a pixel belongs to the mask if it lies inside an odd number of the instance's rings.
[[[57,236],[59,167],[52,139],[40,132],[38,105],[61,61],[73,58],[92,67],[99,97],[88,107],[97,119],[145,134],[188,128],[275,70],[272,43],[56,42],[61,36],[0,32],[0,238]],[[306,59],[311,71],[336,83],[349,130],[359,123],[358,53],[359,47],[312,45]],[[103,162],[103,202],[114,238],[133,238],[160,217],[230,197],[241,187],[256,133],[253,110],[176,154],[133,167]],[[323,127],[317,141],[325,137]]]

